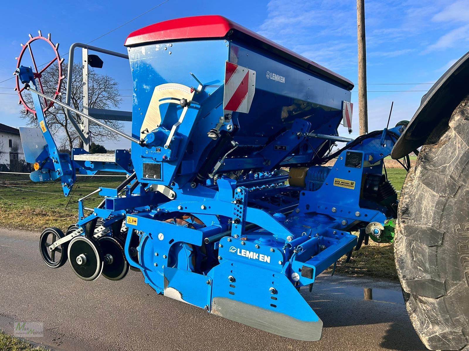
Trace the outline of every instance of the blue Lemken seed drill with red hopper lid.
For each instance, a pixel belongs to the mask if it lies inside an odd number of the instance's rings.
[[[65,103],[55,100],[38,91],[32,68],[16,71],[41,128],[22,130],[32,180],[61,179],[67,196],[76,174],[128,176],[92,192],[103,197],[95,208],[80,199],[66,234],[44,231],[46,264],[68,259],[85,280],[119,280],[130,266],[165,296],[280,336],[320,339],[322,322],[299,290],[365,236],[393,241],[397,195],[383,160],[405,124],[338,136],[342,121],[351,127],[353,84],[224,17],[157,23],[125,45],[128,56],[74,44],[69,64],[76,46],[129,59],[132,134],[115,132],[132,141],[131,153],[59,153],[40,98],[105,126],[128,115],[73,110],[69,91]],[[336,142],[346,145],[332,152]]]

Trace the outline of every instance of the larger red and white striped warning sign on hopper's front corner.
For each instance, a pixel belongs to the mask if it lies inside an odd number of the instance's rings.
[[[227,62],[223,109],[248,113],[256,90],[256,72]]]

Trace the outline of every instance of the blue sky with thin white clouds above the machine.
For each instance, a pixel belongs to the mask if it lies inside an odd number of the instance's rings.
[[[6,15],[0,23],[0,81],[12,77],[20,43],[28,40],[29,33],[36,35],[38,29],[44,35],[52,33],[54,43],[60,43],[59,51],[63,56],[70,44],[88,43],[162,1],[44,0],[38,3],[23,0],[21,7],[14,1],[6,1],[2,4],[2,12]],[[28,8],[30,14],[18,14]],[[231,1],[201,0],[194,6],[193,1],[168,0],[92,44],[125,53],[123,43],[131,31],[182,14],[224,15],[357,81],[355,0],[238,0],[236,6]],[[386,125],[392,101],[391,125],[410,119],[422,95],[431,87],[416,83],[435,82],[469,51],[469,5],[468,0],[365,0],[365,15],[369,128],[376,130]],[[20,22],[29,16],[33,20]],[[46,51],[44,55],[46,62]],[[103,59],[102,73],[108,73],[120,82],[121,108],[130,110],[130,91],[125,90],[132,88],[128,62],[104,56]],[[0,83],[0,123],[22,126],[25,122],[18,118],[18,98],[7,95],[15,93],[13,88],[13,79]],[[355,107],[356,96],[352,93]],[[357,120],[355,109],[352,136],[358,132]],[[129,132],[129,125],[126,129]],[[341,129],[340,134],[345,135],[346,131]],[[128,147],[128,144],[109,141],[106,147],[114,149]]]

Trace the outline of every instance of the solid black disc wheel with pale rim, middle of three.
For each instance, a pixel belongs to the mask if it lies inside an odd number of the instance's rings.
[[[68,245],[70,266],[75,274],[83,280],[94,280],[103,271],[101,249],[92,238],[80,235]]]

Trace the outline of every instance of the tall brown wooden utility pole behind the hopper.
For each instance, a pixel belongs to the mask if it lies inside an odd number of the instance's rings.
[[[366,99],[366,40],[365,0],[356,0],[356,22],[358,32],[358,120],[360,135],[368,133],[368,102]]]

